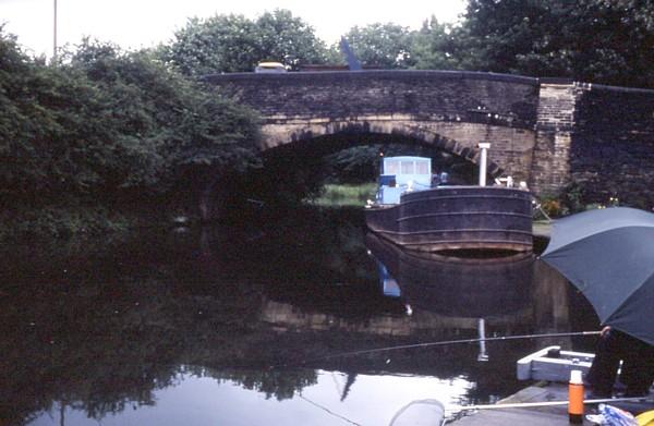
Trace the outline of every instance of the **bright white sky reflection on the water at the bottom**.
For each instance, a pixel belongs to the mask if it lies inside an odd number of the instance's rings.
[[[356,391],[346,401],[339,399],[342,377],[339,373],[317,372],[314,386],[294,399],[262,398],[238,382],[211,377],[180,375],[175,386],[155,391],[156,406],[128,407],[107,413],[102,425],[387,425],[403,394],[426,398],[438,394],[458,398],[465,384],[426,377],[360,375]],[[395,392],[383,390],[393,389]],[[451,389],[460,389],[453,393]],[[62,422],[63,419],[63,422]],[[31,425],[94,424],[82,410],[57,401]]]

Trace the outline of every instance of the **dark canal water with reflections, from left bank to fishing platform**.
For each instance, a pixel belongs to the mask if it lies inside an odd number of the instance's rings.
[[[361,209],[4,252],[2,425],[388,425],[493,403],[526,385],[518,358],[594,341],[385,348],[597,328],[534,257],[409,255]]]

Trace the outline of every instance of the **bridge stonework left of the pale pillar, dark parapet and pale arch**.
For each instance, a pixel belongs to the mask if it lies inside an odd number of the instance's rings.
[[[264,148],[336,134],[396,135],[529,181],[538,105],[535,78],[444,71],[223,74],[207,77],[265,118]],[[354,137],[353,137],[354,139]]]

